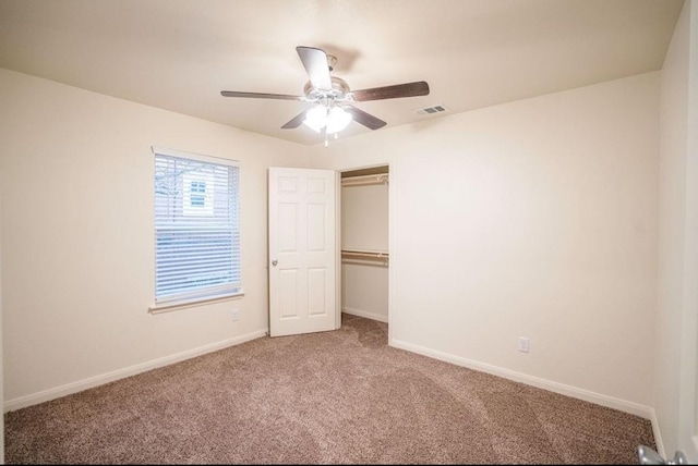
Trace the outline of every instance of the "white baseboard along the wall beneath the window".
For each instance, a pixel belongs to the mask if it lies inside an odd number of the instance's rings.
[[[105,383],[113,382],[115,380],[135,376],[136,373],[145,372],[151,369],[156,369],[163,366],[169,366],[170,364],[180,363],[182,360],[201,356],[206,353],[213,353],[215,351],[222,350],[228,346],[233,346],[240,343],[249,342],[250,340],[264,336],[267,333],[268,333],[268,329],[257,330],[255,332],[248,333],[245,335],[240,335],[232,339],[224,340],[221,342],[212,343],[209,345],[201,346],[194,350],[189,350],[182,353],[177,353],[177,354],[166,356],[159,359],[154,359],[147,363],[137,364],[135,366],[103,373],[101,376],[91,377],[88,379],[79,380],[76,382],[68,383],[65,385],[57,387],[55,389],[44,390],[37,393],[33,393],[31,395],[8,400],[3,403],[3,409],[4,409],[4,413],[8,413],[10,410],[15,410],[15,409],[32,406],[38,403],[48,402],[50,400],[56,400],[61,396],[70,395],[73,393],[82,392],[83,390],[87,390],[94,387],[103,385]]]

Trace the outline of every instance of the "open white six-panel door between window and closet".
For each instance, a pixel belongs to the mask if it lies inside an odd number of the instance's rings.
[[[336,174],[269,168],[269,334],[336,330]]]

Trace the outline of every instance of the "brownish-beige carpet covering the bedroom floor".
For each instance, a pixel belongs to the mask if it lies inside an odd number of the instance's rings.
[[[650,422],[387,346],[262,338],[5,414],[8,464],[638,464]]]

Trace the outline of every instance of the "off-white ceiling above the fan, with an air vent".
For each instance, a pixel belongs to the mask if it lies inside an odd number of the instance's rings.
[[[0,66],[300,144],[297,46],[337,57],[385,127],[660,70],[683,0],[0,0]],[[443,105],[448,112],[414,111]],[[340,137],[371,130],[351,123]],[[385,130],[376,130],[385,131]]]

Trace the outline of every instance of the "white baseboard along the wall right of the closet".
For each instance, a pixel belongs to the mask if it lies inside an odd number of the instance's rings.
[[[659,438],[659,426],[657,425],[657,417],[654,409],[649,406],[645,406],[638,403],[628,402],[625,400],[615,398],[613,396],[603,395],[601,393],[591,392],[589,390],[578,389],[576,387],[566,385],[564,383],[553,382],[552,380],[545,380],[538,377],[529,376],[526,373],[517,372],[509,369],[492,366],[484,363],[479,363],[471,359],[466,359],[459,356],[454,356],[447,353],[442,353],[434,350],[429,350],[422,346],[413,345],[411,343],[405,343],[399,340],[392,340],[390,346],[396,348],[406,350],[412,353],[421,354],[423,356],[433,357],[434,359],[452,363],[457,366],[467,367],[469,369],[479,370],[481,372],[491,373],[493,376],[503,377],[505,379],[514,380],[516,382],[526,383],[527,385],[537,387],[539,389],[547,390],[551,392],[559,393],[562,395],[571,396],[574,398],[583,400],[586,402],[594,403],[601,406],[618,409],[624,413],[629,413],[639,416],[645,419],[649,419],[652,422],[652,430],[654,438],[657,439],[658,446],[661,443]]]

